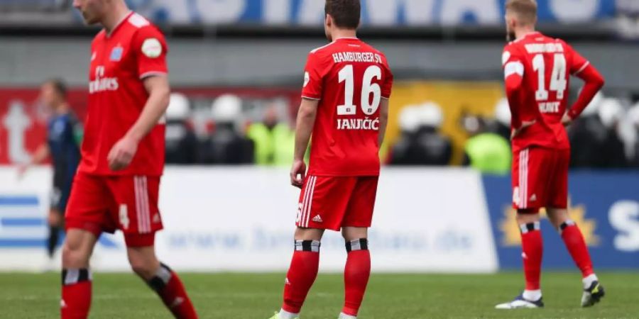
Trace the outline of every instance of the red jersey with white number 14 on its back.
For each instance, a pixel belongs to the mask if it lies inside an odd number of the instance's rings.
[[[567,109],[570,75],[579,74],[589,62],[563,40],[529,33],[506,45],[502,57],[504,75],[523,77],[522,89],[511,105],[513,129],[532,122],[513,138],[513,151],[532,145],[569,149],[562,116]]]

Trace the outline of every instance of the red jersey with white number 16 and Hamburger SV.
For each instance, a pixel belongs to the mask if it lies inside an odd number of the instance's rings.
[[[309,175],[378,176],[379,106],[391,97],[386,56],[357,38],[312,50],[302,98],[319,100]]]

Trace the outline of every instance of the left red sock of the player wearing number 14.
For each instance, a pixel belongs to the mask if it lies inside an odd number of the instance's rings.
[[[540,223],[520,225],[520,230],[526,290],[539,290],[544,250]]]

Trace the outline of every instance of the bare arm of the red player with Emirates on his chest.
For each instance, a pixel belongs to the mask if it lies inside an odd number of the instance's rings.
[[[170,86],[168,77],[153,76],[144,79],[148,100],[129,132],[109,152],[109,167],[114,171],[125,169],[136,155],[138,143],[158,124],[168,107]]]

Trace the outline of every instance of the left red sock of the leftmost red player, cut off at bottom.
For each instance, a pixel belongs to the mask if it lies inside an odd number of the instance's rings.
[[[89,269],[62,269],[60,318],[86,319],[91,308],[91,273]]]

